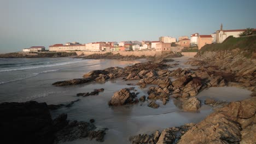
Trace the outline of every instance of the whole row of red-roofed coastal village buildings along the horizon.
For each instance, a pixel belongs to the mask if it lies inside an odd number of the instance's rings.
[[[159,37],[156,41],[117,41],[111,42],[95,42],[88,44],[80,44],[78,42],[66,43],[66,44],[53,44],[49,46],[49,50],[46,50],[45,46],[32,46],[30,48],[23,49],[22,52],[60,52],[60,51],[172,51],[181,52],[184,49],[193,48],[194,50],[200,50],[203,46],[212,43],[222,43],[226,38],[240,37],[240,34],[245,32],[246,29],[229,29],[224,30],[223,25],[220,25],[220,29],[212,34],[199,34],[194,33],[188,36],[181,36],[178,40],[174,37]],[[256,31],[256,29],[253,29]]]

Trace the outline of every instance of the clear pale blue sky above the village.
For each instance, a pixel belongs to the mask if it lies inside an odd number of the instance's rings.
[[[256,28],[256,1],[0,0],[0,53],[78,41],[158,40]]]

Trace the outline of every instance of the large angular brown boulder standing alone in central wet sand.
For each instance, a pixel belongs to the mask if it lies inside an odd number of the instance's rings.
[[[126,104],[137,103],[135,100],[136,95],[133,95],[128,88],[123,88],[118,92],[115,92],[112,99],[108,102],[110,106],[121,106]]]

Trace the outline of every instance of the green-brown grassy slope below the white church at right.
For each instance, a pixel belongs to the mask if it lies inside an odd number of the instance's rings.
[[[199,50],[198,55],[206,51],[227,51],[240,49],[245,57],[251,58],[253,53],[256,52],[256,36],[252,37],[228,37],[221,44],[209,44]]]

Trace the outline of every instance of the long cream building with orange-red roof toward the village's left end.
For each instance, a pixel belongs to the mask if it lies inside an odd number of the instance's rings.
[[[49,46],[49,51],[84,51],[86,50],[86,45],[75,44],[75,45],[63,45],[63,44],[55,44]]]

